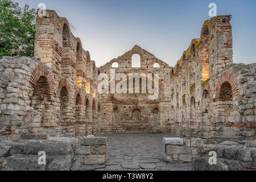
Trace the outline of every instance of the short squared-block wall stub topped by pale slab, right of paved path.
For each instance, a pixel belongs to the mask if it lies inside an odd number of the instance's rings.
[[[204,139],[164,138],[164,160],[168,163],[191,163],[199,155]]]

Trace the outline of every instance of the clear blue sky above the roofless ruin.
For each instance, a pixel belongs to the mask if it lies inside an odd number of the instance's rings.
[[[234,63],[256,63],[255,0],[14,0],[46,8],[68,19],[72,32],[90,51],[97,66],[135,44],[174,66],[209,19],[209,3],[217,15],[232,15]]]

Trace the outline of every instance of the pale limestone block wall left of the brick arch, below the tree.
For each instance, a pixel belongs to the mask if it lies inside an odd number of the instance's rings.
[[[22,134],[42,131],[42,117],[32,109],[30,95],[33,89],[30,82],[32,71],[41,65],[28,57],[3,57],[0,60],[0,140],[20,140]],[[48,88],[51,86],[48,85]],[[46,105],[51,107],[48,103]]]

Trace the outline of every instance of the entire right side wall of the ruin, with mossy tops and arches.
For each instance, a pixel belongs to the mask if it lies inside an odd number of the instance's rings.
[[[230,15],[205,21],[171,77],[174,133],[255,137],[255,65],[232,64]]]

